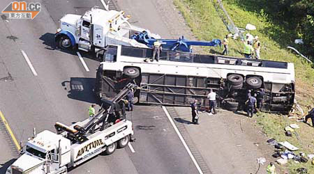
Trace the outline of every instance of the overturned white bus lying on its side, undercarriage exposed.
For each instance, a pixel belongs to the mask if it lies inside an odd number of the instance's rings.
[[[109,45],[100,54],[96,94],[112,97],[128,82],[140,86],[138,102],[188,106],[197,99],[208,106],[207,93],[218,93],[218,106],[243,109],[247,90],[264,88],[262,111],[288,113],[294,103],[294,64],[164,51],[160,61],[145,62],[151,49]]]

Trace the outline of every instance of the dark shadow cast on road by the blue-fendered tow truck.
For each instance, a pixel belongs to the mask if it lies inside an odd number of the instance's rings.
[[[60,48],[58,48],[57,43],[54,41],[54,33],[45,33],[45,34],[41,35],[39,39],[43,40],[43,45],[46,45],[45,49],[57,50],[59,52],[64,52],[66,54],[71,54],[71,55],[77,56],[76,52],[78,52],[78,50],[76,47],[75,47],[75,49],[60,49]],[[89,58],[89,59],[92,59],[94,61],[99,61],[98,58],[96,58],[95,53],[80,52],[80,54],[84,58]]]

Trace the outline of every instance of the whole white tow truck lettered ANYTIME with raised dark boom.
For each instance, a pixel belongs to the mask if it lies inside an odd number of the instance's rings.
[[[133,135],[132,122],[121,113],[123,98],[135,88],[128,84],[112,100],[103,100],[103,107],[94,117],[73,125],[54,125],[57,134],[45,130],[27,141],[20,156],[6,174],[67,173],[84,161],[104,152],[110,155],[124,148]],[[110,118],[114,118],[110,122]],[[111,119],[112,120],[112,119]]]

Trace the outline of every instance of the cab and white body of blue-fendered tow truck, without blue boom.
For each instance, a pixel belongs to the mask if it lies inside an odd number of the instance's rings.
[[[77,46],[84,52],[98,52],[110,44],[147,48],[147,45],[131,38],[143,31],[153,38],[160,38],[147,29],[131,25],[128,22],[130,16],[124,17],[124,11],[109,10],[105,4],[104,7],[105,10],[96,6],[84,15],[64,15],[54,35],[57,46],[62,49]]]

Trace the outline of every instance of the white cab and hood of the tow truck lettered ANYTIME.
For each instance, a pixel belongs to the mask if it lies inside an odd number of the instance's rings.
[[[48,173],[60,171],[60,168],[66,170],[66,164],[70,163],[70,140],[45,130],[26,143],[23,153],[6,174]]]

